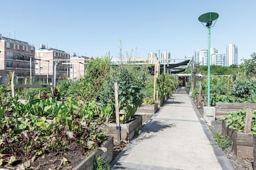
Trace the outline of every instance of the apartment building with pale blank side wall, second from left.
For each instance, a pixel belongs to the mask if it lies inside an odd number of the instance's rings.
[[[35,76],[44,83],[54,82],[54,69],[56,80],[68,78],[70,55],[63,50],[46,48],[40,44],[40,49],[35,50]],[[56,68],[54,68],[56,67]]]

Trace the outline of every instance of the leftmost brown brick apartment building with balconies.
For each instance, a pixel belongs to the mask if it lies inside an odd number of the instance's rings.
[[[28,42],[7,38],[0,34],[0,83],[5,83],[7,74],[15,72],[16,80],[34,76],[35,47]]]

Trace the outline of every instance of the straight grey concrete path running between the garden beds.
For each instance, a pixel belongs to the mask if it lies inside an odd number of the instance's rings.
[[[172,96],[112,169],[233,169],[185,90]]]

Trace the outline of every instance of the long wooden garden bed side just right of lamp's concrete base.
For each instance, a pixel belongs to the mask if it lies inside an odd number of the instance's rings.
[[[216,103],[215,117],[220,118],[228,112],[238,112],[244,108],[256,109],[256,103]]]

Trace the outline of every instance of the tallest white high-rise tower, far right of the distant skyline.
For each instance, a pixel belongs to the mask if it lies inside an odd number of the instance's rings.
[[[232,64],[238,64],[238,49],[235,44],[229,44],[227,46],[226,64],[227,66],[231,66]]]

